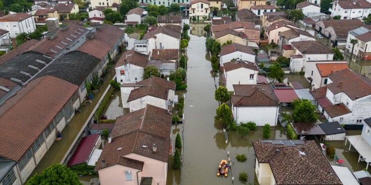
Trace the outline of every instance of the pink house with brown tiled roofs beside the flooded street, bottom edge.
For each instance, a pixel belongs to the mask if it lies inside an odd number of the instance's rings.
[[[166,185],[172,115],[149,104],[118,117],[95,171],[101,185]]]

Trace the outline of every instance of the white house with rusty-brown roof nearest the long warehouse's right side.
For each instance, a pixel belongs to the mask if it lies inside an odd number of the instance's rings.
[[[143,79],[144,68],[149,55],[134,51],[126,51],[115,65],[118,83],[137,83]]]

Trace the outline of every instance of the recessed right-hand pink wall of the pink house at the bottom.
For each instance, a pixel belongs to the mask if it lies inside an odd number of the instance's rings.
[[[152,177],[152,185],[166,185],[168,164],[163,161],[141,156],[135,153],[125,155],[132,159],[143,161],[142,177]]]

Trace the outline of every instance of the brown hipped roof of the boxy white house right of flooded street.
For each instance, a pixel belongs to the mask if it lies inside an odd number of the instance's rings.
[[[234,94],[231,96],[233,106],[259,107],[279,106],[278,99],[269,84],[233,85]]]

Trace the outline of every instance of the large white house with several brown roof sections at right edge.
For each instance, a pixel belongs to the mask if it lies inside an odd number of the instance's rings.
[[[360,125],[371,117],[371,80],[344,69],[328,74],[326,98],[331,106],[324,109],[324,117],[345,125]]]

